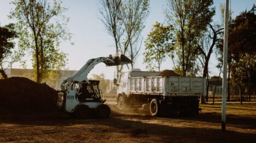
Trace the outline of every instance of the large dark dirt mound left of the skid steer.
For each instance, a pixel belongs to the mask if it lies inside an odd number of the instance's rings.
[[[18,112],[57,111],[57,91],[23,77],[0,79],[0,108]]]

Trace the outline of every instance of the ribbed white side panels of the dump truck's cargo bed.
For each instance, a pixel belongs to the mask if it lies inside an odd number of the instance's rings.
[[[206,95],[206,79],[202,77],[130,77],[129,93],[163,96]]]

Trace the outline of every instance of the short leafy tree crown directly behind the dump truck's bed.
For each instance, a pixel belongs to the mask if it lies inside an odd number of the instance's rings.
[[[154,67],[160,71],[163,61],[173,49],[172,25],[164,26],[156,22],[152,32],[148,34],[146,40],[146,52],[144,52],[144,63],[147,69],[154,70]]]

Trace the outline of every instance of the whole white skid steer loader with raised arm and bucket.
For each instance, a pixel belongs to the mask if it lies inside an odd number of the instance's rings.
[[[100,81],[89,80],[88,73],[99,63],[106,66],[117,66],[131,64],[132,61],[121,54],[112,57],[100,57],[90,59],[74,76],[63,80],[61,92],[58,94],[57,107],[71,117],[85,119],[91,115],[99,118],[107,118],[110,115],[110,108],[102,100],[102,92],[98,88]]]

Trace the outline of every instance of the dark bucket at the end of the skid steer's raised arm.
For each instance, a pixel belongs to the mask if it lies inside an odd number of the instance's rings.
[[[110,55],[109,58],[111,58],[112,56]],[[104,61],[104,63],[106,64],[106,66],[117,66],[117,65],[125,65],[125,64],[131,64],[132,60],[130,60],[129,58],[127,58],[125,55],[121,54],[120,57],[116,56],[116,57],[112,57],[113,62],[110,61]]]

